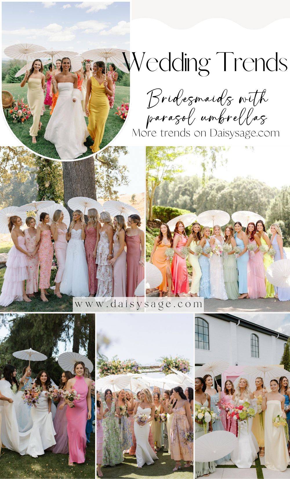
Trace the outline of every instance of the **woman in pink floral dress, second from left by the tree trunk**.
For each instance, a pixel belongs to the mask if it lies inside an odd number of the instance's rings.
[[[26,294],[30,298],[34,298],[34,293],[38,292],[38,270],[39,270],[39,256],[38,249],[39,243],[36,244],[36,221],[32,216],[28,216],[25,220],[27,229],[24,229],[25,247],[26,250],[33,254],[33,256],[27,256],[27,279],[26,279]]]

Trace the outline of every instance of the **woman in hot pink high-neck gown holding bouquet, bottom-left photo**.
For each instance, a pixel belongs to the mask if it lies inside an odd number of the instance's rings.
[[[74,462],[81,464],[86,457],[86,424],[91,418],[91,379],[84,377],[85,365],[82,361],[74,365],[75,377],[67,381],[67,389],[74,389],[80,398],[70,402],[66,399],[67,408],[67,435],[69,459],[68,465]],[[74,407],[73,407],[74,406]]]

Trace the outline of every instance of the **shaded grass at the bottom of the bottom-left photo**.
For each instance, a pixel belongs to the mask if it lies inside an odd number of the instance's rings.
[[[83,464],[67,465],[68,455],[46,452],[36,458],[20,456],[9,449],[1,450],[0,479],[4,478],[46,478],[46,479],[93,479],[95,478],[95,436],[91,434],[87,447],[86,461]]]

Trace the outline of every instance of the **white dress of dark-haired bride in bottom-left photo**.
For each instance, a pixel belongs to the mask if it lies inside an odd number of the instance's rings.
[[[45,449],[56,444],[56,431],[52,413],[48,412],[48,399],[45,396],[45,391],[41,392],[37,407],[32,406],[31,417],[33,427],[31,429],[26,454],[37,457],[44,454]]]

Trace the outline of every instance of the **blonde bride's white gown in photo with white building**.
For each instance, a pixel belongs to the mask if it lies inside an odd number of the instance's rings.
[[[244,400],[240,399],[239,405],[244,404],[244,402]],[[251,400],[250,406],[257,412],[257,400]],[[252,433],[252,424],[253,419],[248,419],[248,422],[239,422],[238,443],[231,452],[231,460],[237,468],[248,469],[257,459],[259,446],[256,437]]]

